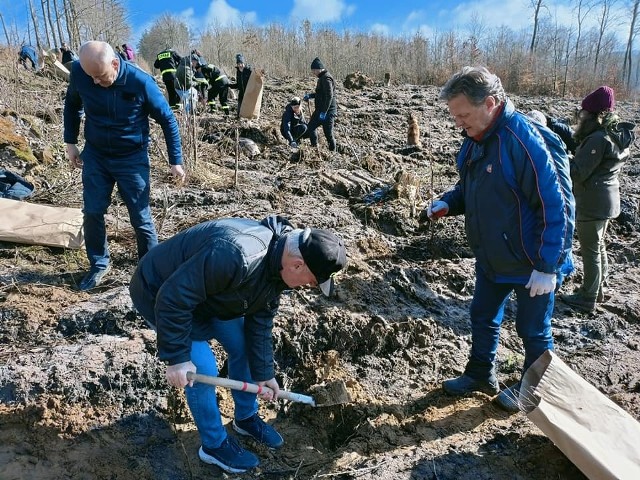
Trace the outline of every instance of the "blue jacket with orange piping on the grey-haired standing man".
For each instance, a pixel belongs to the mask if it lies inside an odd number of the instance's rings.
[[[442,200],[447,215],[465,214],[477,265],[495,282],[527,283],[532,270],[573,270],[575,200],[559,137],[534,126],[506,100],[479,140],[466,138],[460,180]]]

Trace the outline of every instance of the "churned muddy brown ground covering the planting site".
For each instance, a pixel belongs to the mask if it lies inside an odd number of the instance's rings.
[[[29,201],[81,207],[80,174],[69,169],[62,144],[66,84],[11,67],[0,77],[0,118],[38,159],[0,145],[0,163],[34,181]],[[76,289],[87,269],[82,251],[0,243],[0,478],[584,478],[524,414],[507,414],[484,394],[457,399],[440,388],[466,362],[474,275],[461,218],[426,228],[415,218],[456,181],[461,137],[437,101],[438,88],[375,81],[341,87],[340,152],[328,152],[324,138],[319,152],[308,144],[292,152],[278,135],[280,114],[289,97],[314,84],[311,77],[267,78],[262,117],[253,125],[197,116],[197,141],[185,141],[198,152],[196,162],[188,155],[185,186],[172,183],[154,126],[152,203],[161,239],[211,218],[273,213],[339,232],[349,267],[337,296],[285,294],[273,335],[281,385],[304,393],[344,380],[352,402],[262,404],[284,447],[269,451],[243,439],[262,461],[244,475],[202,464],[184,396],[167,387],[154,333],[127,295],[135,242],[116,198],[108,217],[114,268],[91,293]],[[579,104],[512,99],[524,111],[561,117]],[[618,109],[640,123],[637,105],[621,101]],[[422,148],[406,144],[409,112],[418,116]],[[188,119],[180,121],[188,135]],[[241,152],[236,177],[237,127],[261,153]],[[609,299],[589,315],[558,302],[553,321],[560,357],[636,419],[639,158],[636,147],[622,176],[623,214],[608,235]],[[564,291],[580,283],[579,257],[577,264]],[[523,350],[513,306],[498,358],[500,381],[517,380]],[[219,389],[219,400],[228,422],[229,392]]]

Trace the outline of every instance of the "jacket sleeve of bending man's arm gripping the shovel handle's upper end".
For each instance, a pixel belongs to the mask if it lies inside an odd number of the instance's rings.
[[[208,296],[241,283],[243,276],[242,255],[214,246],[192,256],[162,284],[154,312],[160,360],[175,365],[191,359],[194,310]]]

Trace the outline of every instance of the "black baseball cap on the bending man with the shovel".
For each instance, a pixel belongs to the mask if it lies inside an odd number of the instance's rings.
[[[300,253],[318,287],[328,297],[333,292],[333,274],[347,264],[347,250],[342,240],[329,230],[312,228],[306,238],[305,233],[300,234]]]

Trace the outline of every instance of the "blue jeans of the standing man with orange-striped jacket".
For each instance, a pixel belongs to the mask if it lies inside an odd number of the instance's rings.
[[[471,356],[465,373],[475,379],[494,375],[494,364],[504,307],[511,292],[518,304],[516,331],[524,344],[525,371],[545,350],[553,350],[551,316],[554,293],[529,296],[529,289],[517,283],[495,283],[476,268],[476,286],[471,301]]]

